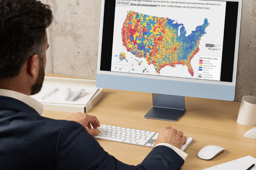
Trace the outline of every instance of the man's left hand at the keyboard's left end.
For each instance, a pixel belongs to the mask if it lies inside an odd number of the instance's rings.
[[[66,120],[75,121],[82,124],[87,132],[91,135],[100,134],[100,130],[97,128],[100,127],[100,122],[96,118],[96,116],[91,116],[83,113],[76,113],[74,115],[69,116]],[[91,125],[93,125],[94,129],[91,129]]]

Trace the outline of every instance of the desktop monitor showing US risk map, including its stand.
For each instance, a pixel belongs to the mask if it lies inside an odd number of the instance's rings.
[[[97,87],[152,93],[145,118],[177,121],[184,96],[233,101],[242,0],[101,6]]]

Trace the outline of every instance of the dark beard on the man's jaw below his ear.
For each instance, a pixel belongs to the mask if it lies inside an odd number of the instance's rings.
[[[44,62],[41,61],[39,64],[39,71],[38,71],[38,78],[35,84],[31,87],[31,94],[30,95],[35,95],[39,93],[43,87],[43,82],[44,82]]]

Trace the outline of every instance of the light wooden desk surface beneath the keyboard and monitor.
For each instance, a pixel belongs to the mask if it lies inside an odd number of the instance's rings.
[[[46,73],[48,77],[74,78]],[[145,119],[152,108],[152,95],[144,92],[103,89],[103,97],[87,114],[96,116],[101,124],[159,132],[165,126],[182,131],[193,137],[194,142],[185,151],[188,154],[182,170],[201,170],[229,162],[244,156],[256,158],[256,142],[243,137],[244,133],[256,126],[237,123],[240,103],[222,100],[185,97],[186,112],[177,122]],[[42,116],[66,119],[74,113],[44,111]],[[102,148],[120,161],[138,165],[152,148],[97,140]],[[226,148],[211,160],[198,157],[198,152],[207,145]]]

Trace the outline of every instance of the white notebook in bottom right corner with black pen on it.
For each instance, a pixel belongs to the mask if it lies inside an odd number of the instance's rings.
[[[204,170],[246,170],[251,165],[256,163],[256,159],[252,156],[245,156],[240,159],[232,160],[230,162],[213,166]],[[254,166],[251,170],[256,170]]]

